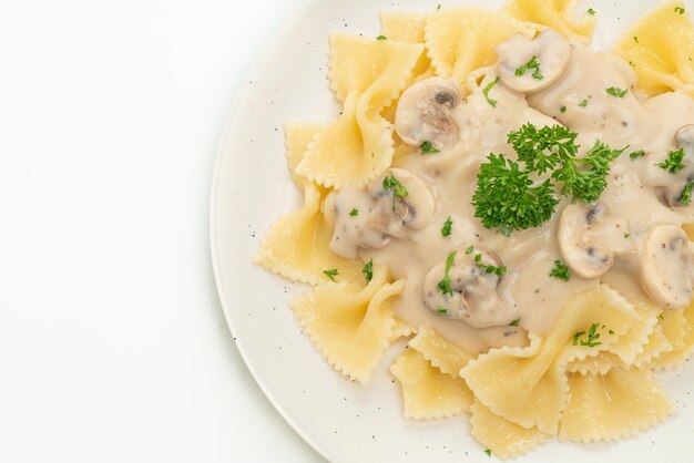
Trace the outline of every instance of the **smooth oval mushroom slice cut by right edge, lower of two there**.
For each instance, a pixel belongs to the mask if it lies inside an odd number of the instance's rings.
[[[692,302],[694,268],[686,233],[675,225],[651,230],[641,258],[641,287],[654,303],[683,309]]]

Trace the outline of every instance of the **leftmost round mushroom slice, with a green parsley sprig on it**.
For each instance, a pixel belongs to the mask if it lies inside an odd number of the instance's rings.
[[[391,168],[369,186],[375,205],[368,216],[370,228],[404,238],[407,229],[422,229],[431,222],[436,199],[427,184],[410,171]]]

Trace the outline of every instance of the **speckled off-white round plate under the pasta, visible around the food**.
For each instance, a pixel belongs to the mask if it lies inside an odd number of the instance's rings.
[[[469,434],[467,416],[416,422],[402,418],[400,392],[388,367],[401,344],[363,387],[336,373],[316,352],[286,302],[304,288],[251,264],[271,224],[300,205],[284,148],[286,121],[322,122],[338,111],[326,80],[330,31],[376,37],[382,9],[432,10],[455,0],[313,0],[275,38],[236,102],[217,158],[212,196],[212,256],[220,298],[251,373],[279,413],[335,462],[480,461],[489,457]],[[502,1],[486,1],[498,8]],[[594,6],[598,48],[645,10],[647,0]],[[694,11],[693,2],[688,2]],[[585,7],[588,8],[588,6]],[[688,367],[688,362],[686,364]],[[678,413],[637,439],[612,444],[550,442],[518,462],[684,462],[694,451],[694,370],[661,375]]]

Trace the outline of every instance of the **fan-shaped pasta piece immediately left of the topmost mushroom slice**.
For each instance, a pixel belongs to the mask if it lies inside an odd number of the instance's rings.
[[[442,9],[427,18],[427,53],[438,75],[463,84],[473,70],[497,61],[494,48],[537,28],[481,8]]]

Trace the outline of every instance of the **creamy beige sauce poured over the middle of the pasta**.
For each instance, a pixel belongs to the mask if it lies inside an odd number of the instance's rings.
[[[492,88],[489,96],[497,101],[496,107],[489,104],[482,88],[497,75],[487,75],[478,91],[450,111],[458,127],[455,145],[429,155],[421,155],[419,147],[412,146],[396,157],[394,167],[418,176],[436,200],[423,228],[408,229],[401,237],[369,230],[366,216],[374,208],[372,195],[366,188],[338,192],[331,249],[348,257],[358,254],[364,261],[386,264],[394,278],[406,278],[398,316],[412,327],[430,326],[450,341],[480,352],[489,347],[523,346],[528,342],[527,331],[547,336],[567,300],[575,291],[600,282],[610,284],[634,302],[651,300],[640,281],[645,239],[657,225],[680,227],[694,222],[692,207],[671,208],[663,204],[663,189],[675,182],[675,176],[655,166],[676,148],[677,130],[694,124],[694,100],[682,93],[641,99],[634,91],[634,73],[623,60],[593,52],[578,42],[570,42],[570,50],[561,76],[537,93],[527,96],[502,82]],[[609,88],[626,89],[627,93],[615,97],[608,94]],[[615,254],[614,264],[600,278],[572,275],[569,281],[563,281],[549,276],[554,261],[563,260],[557,232],[567,199],[558,205],[551,220],[537,228],[513,232],[510,237],[484,228],[474,218],[471,197],[477,189],[480,164],[490,153],[516,158],[507,135],[524,123],[538,127],[562,124],[578,132],[581,155],[596,141],[612,148],[629,146],[612,163],[608,187],[600,199],[620,227],[626,228],[621,238],[615,238],[614,233],[605,235],[605,243],[616,249],[621,244],[615,239],[627,240],[624,246],[627,251]],[[644,150],[646,155],[631,160],[629,153],[637,150]],[[358,217],[348,215],[353,208],[359,209]],[[441,227],[449,216],[451,235],[442,237]],[[520,319],[519,327],[476,329],[427,309],[423,296],[427,274],[445,263],[451,250],[462,253],[469,246],[492,250],[507,267],[507,274],[500,278],[499,294],[512,308],[514,318]]]

